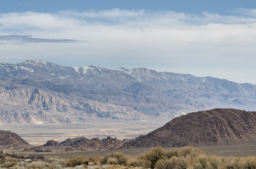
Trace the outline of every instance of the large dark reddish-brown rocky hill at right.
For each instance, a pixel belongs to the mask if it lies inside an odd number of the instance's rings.
[[[213,109],[182,115],[124,147],[181,147],[256,142],[256,112]]]

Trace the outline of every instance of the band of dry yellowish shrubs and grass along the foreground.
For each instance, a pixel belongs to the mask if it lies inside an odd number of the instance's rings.
[[[207,154],[194,147],[165,150],[161,147],[143,152],[137,156],[125,156],[121,152],[113,152],[103,157],[86,158],[80,156],[69,160],[58,160],[51,163],[33,161],[30,163],[4,161],[3,168],[49,168],[49,169],[256,169],[256,157],[223,157]]]

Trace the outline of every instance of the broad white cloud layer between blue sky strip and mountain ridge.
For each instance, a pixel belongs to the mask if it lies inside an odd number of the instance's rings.
[[[31,34],[86,43],[0,45],[0,59],[45,59],[70,66],[147,67],[252,82],[255,10],[236,15],[109,10],[0,14],[0,36]],[[1,41],[0,41],[1,43]],[[246,75],[241,75],[241,72]]]

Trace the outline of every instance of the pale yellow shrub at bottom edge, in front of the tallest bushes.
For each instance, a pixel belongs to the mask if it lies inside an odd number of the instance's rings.
[[[186,159],[173,157],[170,159],[160,159],[156,163],[156,169],[186,169]]]

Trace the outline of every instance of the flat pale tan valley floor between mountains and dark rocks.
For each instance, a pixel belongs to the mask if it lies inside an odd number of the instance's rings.
[[[118,139],[136,138],[146,135],[154,129],[166,124],[164,119],[150,121],[88,121],[84,124],[6,124],[0,126],[2,130],[10,130],[21,136],[31,145],[43,145],[47,140],[63,142],[67,138],[85,136],[86,138],[106,136]]]

